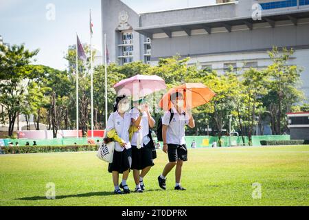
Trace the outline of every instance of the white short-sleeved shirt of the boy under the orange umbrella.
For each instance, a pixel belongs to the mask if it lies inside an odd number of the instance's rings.
[[[174,117],[170,122],[170,111],[166,111],[162,118],[162,124],[168,126],[166,131],[166,144],[185,144],[185,125],[189,124],[190,117],[183,111],[179,114],[176,108],[172,108]],[[165,144],[165,143],[164,143]]]

